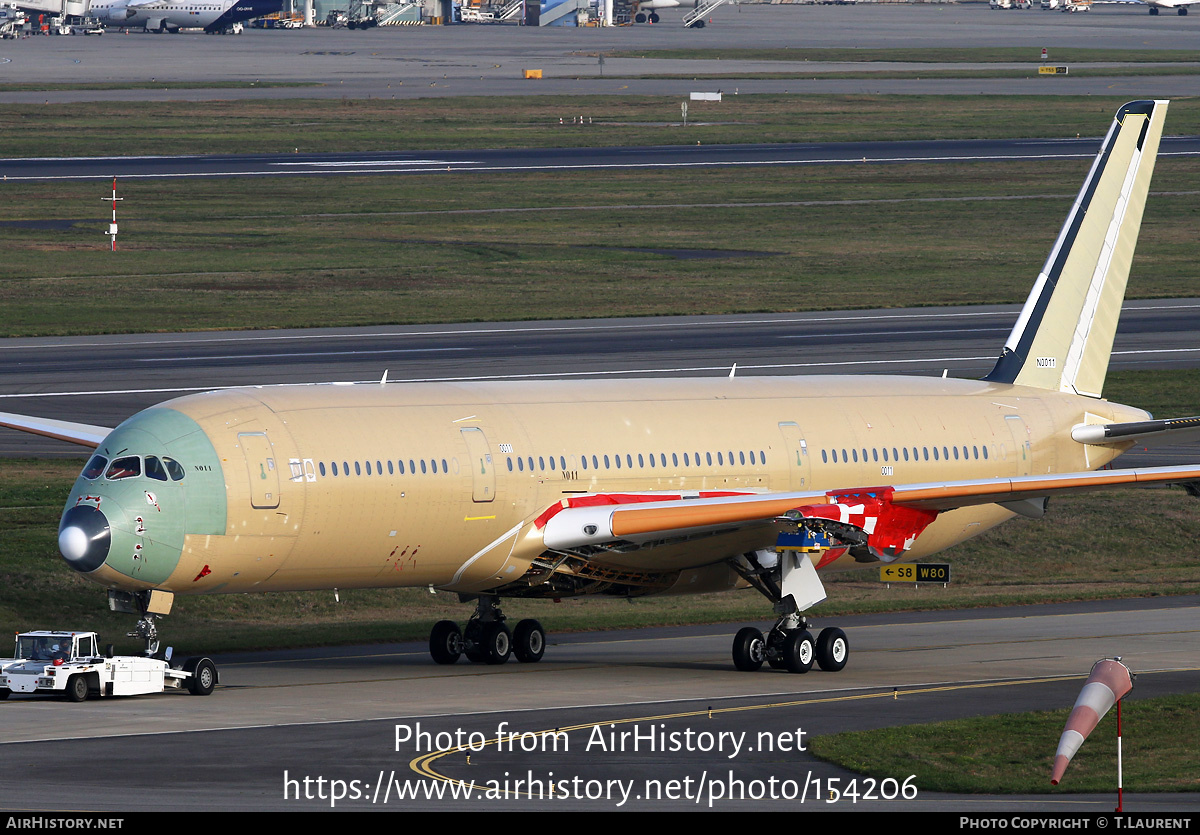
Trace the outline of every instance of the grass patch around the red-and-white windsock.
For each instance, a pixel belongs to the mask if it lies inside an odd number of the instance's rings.
[[[1121,708],[1126,792],[1200,792],[1195,739],[1180,733],[1200,725],[1200,696],[1139,699]],[[809,750],[878,779],[910,774],[923,792],[966,794],[1112,793],[1117,763],[1116,710],[1110,710],[1050,786],[1058,737],[1070,708],[964,719],[932,725],[815,737]]]

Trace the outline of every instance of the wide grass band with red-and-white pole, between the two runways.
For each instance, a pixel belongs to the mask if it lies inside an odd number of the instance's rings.
[[[138,180],[116,253],[104,186],[8,182],[0,335],[1020,302],[1087,164]],[[1129,295],[1192,295],[1200,160],[1154,186]]]

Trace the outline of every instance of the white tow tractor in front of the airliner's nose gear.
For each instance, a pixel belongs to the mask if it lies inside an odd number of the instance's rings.
[[[109,644],[97,651],[95,632],[22,632],[14,657],[0,660],[0,699],[11,693],[59,692],[72,702],[91,696],[142,696],[166,690],[187,690],[208,696],[217,684],[211,659],[192,657],[172,666],[164,659],[113,655]]]

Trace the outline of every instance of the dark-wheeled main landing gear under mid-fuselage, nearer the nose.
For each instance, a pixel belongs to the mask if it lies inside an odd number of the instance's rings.
[[[452,620],[439,620],[430,632],[430,655],[438,663],[455,663],[461,655],[478,663],[504,663],[510,655],[517,661],[541,661],[546,651],[546,631],[536,620],[521,620],[515,630],[504,624],[500,599],[482,595],[467,626],[460,631]]]

